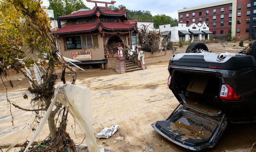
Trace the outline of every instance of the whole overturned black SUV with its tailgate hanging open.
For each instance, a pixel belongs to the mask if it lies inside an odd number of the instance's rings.
[[[151,126],[173,143],[201,150],[217,143],[228,122],[255,122],[256,41],[245,52],[215,54],[192,43],[186,53],[173,55],[168,86],[180,104]]]

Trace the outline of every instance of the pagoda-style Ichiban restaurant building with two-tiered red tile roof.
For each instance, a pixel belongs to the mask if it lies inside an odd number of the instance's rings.
[[[137,20],[128,18],[125,7],[111,11],[108,4],[113,5],[115,1],[87,2],[94,2],[95,7],[51,18],[58,24],[52,33],[56,35],[57,47],[64,57],[79,60],[79,64],[101,63],[104,68],[108,58],[118,57],[117,47],[130,47]],[[97,6],[97,3],[103,3],[105,7]]]

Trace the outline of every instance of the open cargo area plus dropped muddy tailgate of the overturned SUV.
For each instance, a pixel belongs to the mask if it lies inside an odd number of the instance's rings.
[[[165,121],[151,126],[170,141],[191,150],[213,147],[227,122],[221,113],[217,74],[174,71],[172,91],[179,100],[173,113]]]

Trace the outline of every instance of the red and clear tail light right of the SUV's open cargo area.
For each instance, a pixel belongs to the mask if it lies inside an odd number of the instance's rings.
[[[220,98],[224,100],[240,100],[240,96],[236,94],[235,88],[229,85],[221,86]]]

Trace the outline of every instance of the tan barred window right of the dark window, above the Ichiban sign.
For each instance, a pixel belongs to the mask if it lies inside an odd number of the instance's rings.
[[[97,35],[81,35],[82,49],[99,48]]]

